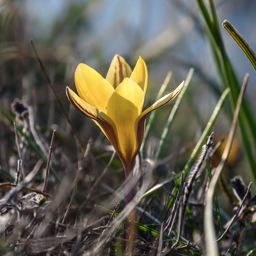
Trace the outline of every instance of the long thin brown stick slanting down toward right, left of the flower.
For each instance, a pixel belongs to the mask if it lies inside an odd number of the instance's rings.
[[[84,153],[84,152],[85,152],[85,148],[84,148],[84,146],[83,146],[83,143],[82,143],[82,141],[81,141],[81,139],[80,139],[80,137],[79,137],[79,135],[78,135],[78,133],[77,133],[76,128],[75,128],[74,125],[72,124],[72,121],[70,120],[70,118],[69,118],[69,116],[68,116],[66,110],[64,109],[64,107],[63,107],[63,105],[62,105],[62,103],[61,103],[61,101],[60,101],[60,99],[59,99],[59,97],[58,97],[58,95],[57,95],[57,92],[56,92],[55,89],[54,89],[54,86],[53,86],[52,83],[51,83],[51,80],[50,80],[50,78],[49,78],[49,76],[48,76],[48,74],[47,74],[47,72],[46,72],[46,70],[45,70],[45,67],[44,67],[44,65],[43,65],[43,63],[42,63],[42,61],[41,61],[41,59],[40,59],[39,56],[38,56],[38,53],[37,53],[37,51],[36,51],[36,48],[35,48],[35,46],[34,46],[34,42],[33,42],[33,39],[32,39],[32,38],[30,39],[30,44],[31,44],[31,46],[32,46],[32,48],[33,48],[33,50],[34,50],[34,52],[35,52],[36,58],[37,58],[37,60],[38,60],[38,62],[39,62],[39,65],[40,65],[42,71],[44,72],[44,75],[45,75],[45,77],[46,77],[46,79],[47,79],[47,81],[48,81],[48,83],[49,83],[49,86],[50,86],[50,88],[52,89],[52,92],[53,92],[53,94],[54,94],[54,97],[55,97],[57,103],[59,104],[59,107],[60,107],[60,109],[61,109],[61,111],[62,111],[64,117],[66,118],[68,124],[70,125],[71,130],[72,130],[73,133],[74,133],[74,136],[75,136],[75,138],[76,138],[76,140],[77,140],[77,142],[78,142],[78,145],[79,145],[79,147],[80,147],[80,150]]]

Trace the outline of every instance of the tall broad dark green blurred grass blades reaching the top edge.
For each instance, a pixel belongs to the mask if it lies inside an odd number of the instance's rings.
[[[234,112],[235,104],[238,99],[238,95],[240,92],[240,85],[238,83],[236,74],[233,70],[231,62],[227,56],[225,51],[225,47],[223,44],[222,36],[219,30],[219,24],[217,20],[217,15],[215,12],[213,1],[210,1],[210,9],[212,19],[208,13],[208,10],[202,0],[196,0],[199,9],[202,13],[206,24],[206,31],[209,37],[210,45],[212,48],[212,52],[215,58],[216,66],[220,77],[223,81],[223,85],[225,88],[231,89],[231,96],[229,99],[230,111],[229,115],[232,117],[232,113]],[[248,104],[245,99],[243,99],[242,106],[241,106],[241,114],[239,116],[239,128],[242,137],[243,148],[246,151],[246,157],[249,164],[250,175],[256,182],[256,173],[254,172],[256,166],[254,163],[253,152],[251,148],[251,142],[249,140],[248,131],[246,129],[246,123],[248,124],[248,128],[250,130],[253,146],[256,148],[256,123],[252,114],[252,111],[249,109]]]

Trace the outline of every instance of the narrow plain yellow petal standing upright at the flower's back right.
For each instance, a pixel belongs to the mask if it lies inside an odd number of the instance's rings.
[[[148,73],[147,65],[141,57],[138,59],[135,68],[132,71],[130,79],[132,79],[135,83],[137,83],[140,86],[145,95],[147,91]]]

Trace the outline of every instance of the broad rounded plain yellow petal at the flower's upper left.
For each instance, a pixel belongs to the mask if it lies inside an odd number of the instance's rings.
[[[75,72],[75,83],[80,98],[106,113],[108,100],[114,89],[96,70],[81,63]]]

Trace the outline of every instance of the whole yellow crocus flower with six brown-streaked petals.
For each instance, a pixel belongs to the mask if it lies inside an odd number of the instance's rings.
[[[124,58],[115,55],[106,78],[81,63],[75,71],[79,96],[67,87],[71,104],[91,118],[115,148],[126,177],[140,150],[147,115],[173,100],[184,84],[183,81],[173,92],[142,112],[147,81],[147,66],[141,57],[132,71]]]

